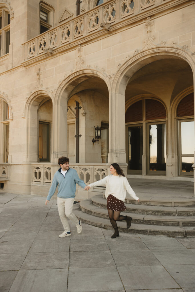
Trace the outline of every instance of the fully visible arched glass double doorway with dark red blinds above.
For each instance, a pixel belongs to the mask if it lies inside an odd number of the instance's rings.
[[[143,153],[147,174],[166,173],[165,121],[166,109],[158,100],[142,99],[127,109],[125,123],[129,173],[142,174]]]

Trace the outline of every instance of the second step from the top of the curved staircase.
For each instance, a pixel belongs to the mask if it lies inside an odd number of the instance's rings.
[[[95,206],[106,208],[106,199],[103,199],[102,194],[92,197],[92,203]],[[137,213],[145,215],[161,215],[161,216],[194,216],[195,208],[189,207],[167,207],[167,206],[147,206],[126,204],[127,213]]]

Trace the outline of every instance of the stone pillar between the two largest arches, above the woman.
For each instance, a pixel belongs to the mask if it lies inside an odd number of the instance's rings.
[[[111,93],[109,96],[108,163],[112,162],[127,166],[125,153],[125,95],[120,93]]]

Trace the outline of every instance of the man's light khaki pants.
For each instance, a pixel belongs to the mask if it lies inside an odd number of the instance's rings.
[[[60,220],[62,222],[62,225],[64,227],[64,231],[70,231],[70,226],[68,224],[68,219],[70,219],[75,225],[79,223],[79,220],[73,214],[73,203],[74,203],[74,198],[58,198],[58,212],[60,215]]]

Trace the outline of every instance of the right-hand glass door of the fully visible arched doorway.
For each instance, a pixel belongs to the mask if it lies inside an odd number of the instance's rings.
[[[165,123],[147,124],[147,174],[166,175]]]

